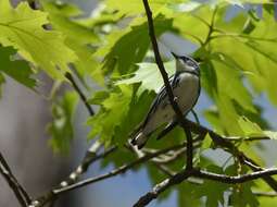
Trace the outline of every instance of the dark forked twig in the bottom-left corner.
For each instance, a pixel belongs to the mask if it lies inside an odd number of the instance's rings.
[[[1,153],[0,153],[0,173],[3,175],[3,178],[12,188],[21,206],[22,207],[28,206],[28,204],[30,204],[32,202],[32,198],[24,190],[24,187],[18,183],[16,178],[13,175],[8,162],[5,161]]]

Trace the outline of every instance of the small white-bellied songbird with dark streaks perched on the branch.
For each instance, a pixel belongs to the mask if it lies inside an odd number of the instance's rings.
[[[176,59],[176,72],[169,77],[169,84],[180,110],[184,115],[187,115],[200,95],[199,63],[188,56],[177,56],[174,52],[172,54]],[[146,119],[131,134],[130,143],[140,149],[159,126],[175,121],[175,111],[168,100],[165,86],[163,86],[153,100]]]

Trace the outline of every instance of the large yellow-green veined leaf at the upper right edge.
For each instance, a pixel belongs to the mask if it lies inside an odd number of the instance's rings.
[[[212,50],[216,53],[223,53],[227,61],[231,57],[232,62],[237,64],[236,68],[239,65],[239,70],[244,71],[244,76],[248,77],[254,90],[256,93],[266,92],[269,100],[276,105],[277,85],[273,77],[277,75],[277,59],[275,56],[277,36],[274,33],[277,27],[274,15],[264,10],[263,19],[259,21],[251,19],[254,28],[249,34],[240,34],[244,26],[237,20],[239,17],[230,21],[231,27],[225,24],[223,32],[217,37],[215,35],[216,38],[211,41]],[[245,16],[240,22],[247,24],[248,21],[249,17]],[[236,33],[232,29],[228,31],[232,27],[237,27]],[[228,48],[228,50],[224,48]]]

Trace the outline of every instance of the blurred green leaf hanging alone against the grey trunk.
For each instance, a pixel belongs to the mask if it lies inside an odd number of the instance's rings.
[[[52,138],[49,144],[55,153],[67,154],[74,138],[73,115],[78,102],[75,92],[66,92],[52,105],[53,121],[48,125]]]

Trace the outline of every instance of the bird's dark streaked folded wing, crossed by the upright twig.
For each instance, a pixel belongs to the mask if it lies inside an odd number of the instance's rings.
[[[176,85],[178,84],[178,78],[177,78],[177,75],[172,75],[169,77],[169,84],[172,86],[172,88],[174,89],[176,87]],[[150,107],[150,110],[144,119],[144,121],[142,122],[141,124],[141,127],[144,127],[146,124],[148,123],[150,117],[155,112],[155,110],[158,109],[158,106],[159,104],[167,96],[167,93],[166,93],[166,88],[165,86],[163,86],[159,94],[156,95],[155,99],[153,100],[151,107]]]

